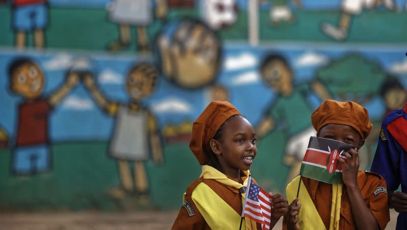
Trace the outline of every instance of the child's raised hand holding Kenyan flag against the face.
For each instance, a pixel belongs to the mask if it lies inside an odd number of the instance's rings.
[[[359,170],[359,155],[354,149],[350,149],[343,154],[347,157],[345,161],[343,158],[338,158],[342,164],[342,179],[346,186],[358,186],[357,177]]]

